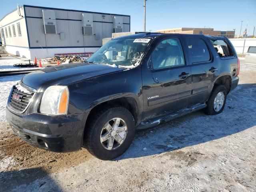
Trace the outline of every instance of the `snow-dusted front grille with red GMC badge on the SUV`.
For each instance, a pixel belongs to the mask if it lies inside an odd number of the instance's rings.
[[[24,112],[30,104],[30,101],[32,100],[34,93],[35,92],[27,90],[26,88],[21,87],[20,85],[14,86],[12,90],[12,96],[10,99],[10,106],[16,112]]]

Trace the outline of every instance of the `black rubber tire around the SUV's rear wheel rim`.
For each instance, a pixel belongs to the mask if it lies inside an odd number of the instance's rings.
[[[217,94],[219,94],[219,93],[220,93],[220,95],[222,95],[222,93],[224,95],[223,105],[219,109],[216,109],[216,105],[215,105],[215,109],[214,109],[214,99],[216,98]],[[218,85],[218,86],[214,87],[210,98],[206,102],[207,107],[204,109],[204,112],[208,115],[220,114],[224,109],[224,106],[226,104],[226,99],[227,99],[226,87],[224,85]],[[218,102],[218,99],[217,99],[217,102]]]

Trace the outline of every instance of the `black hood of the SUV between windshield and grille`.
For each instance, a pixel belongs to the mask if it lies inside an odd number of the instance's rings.
[[[80,80],[122,70],[125,70],[125,68],[104,64],[71,63],[31,72],[25,75],[21,82],[36,89],[38,92],[43,92],[52,85],[68,85]]]

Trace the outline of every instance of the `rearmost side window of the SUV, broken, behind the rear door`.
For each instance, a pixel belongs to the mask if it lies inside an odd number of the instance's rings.
[[[211,40],[211,42],[220,58],[234,56],[234,52],[224,40]]]

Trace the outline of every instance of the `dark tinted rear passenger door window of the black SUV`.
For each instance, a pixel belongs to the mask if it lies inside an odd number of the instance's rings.
[[[210,52],[201,38],[186,38],[192,63],[210,61]]]

